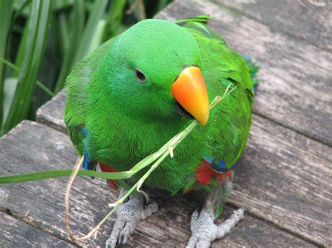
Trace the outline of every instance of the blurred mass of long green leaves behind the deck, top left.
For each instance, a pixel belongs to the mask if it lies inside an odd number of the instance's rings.
[[[172,0],[0,0],[0,136],[64,87],[72,66]]]

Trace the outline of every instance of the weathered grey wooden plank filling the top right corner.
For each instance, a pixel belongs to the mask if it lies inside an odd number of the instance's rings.
[[[213,0],[272,29],[332,50],[332,3],[310,0]]]

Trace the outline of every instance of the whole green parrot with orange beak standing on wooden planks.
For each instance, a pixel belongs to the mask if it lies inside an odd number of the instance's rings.
[[[256,73],[207,27],[207,17],[201,19],[138,22],[78,62],[66,84],[65,122],[88,170],[130,170],[193,119],[200,122],[143,185],[171,196],[197,192],[202,207],[191,217],[188,247],[209,247],[243,217],[239,209],[214,224],[247,143]],[[228,85],[233,92],[209,111]],[[114,180],[108,184],[119,187]],[[116,212],[106,247],[126,242],[139,221],[157,210],[148,194],[130,196]]]

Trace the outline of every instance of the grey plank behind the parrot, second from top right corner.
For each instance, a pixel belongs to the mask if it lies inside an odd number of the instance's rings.
[[[331,146],[332,54],[210,1],[175,1],[157,17],[201,14],[215,17],[209,25],[230,47],[260,62],[254,112]]]

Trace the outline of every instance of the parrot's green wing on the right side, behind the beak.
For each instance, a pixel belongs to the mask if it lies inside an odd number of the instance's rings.
[[[216,110],[216,130],[213,132],[212,156],[204,159],[214,170],[225,173],[231,170],[247,143],[251,124],[251,106],[254,100],[253,83],[244,59],[226,45],[219,34],[205,22],[189,21],[183,24],[195,37],[201,51],[202,73],[207,87],[214,96],[222,96],[228,85],[237,87]],[[183,22],[181,22],[183,23]]]

